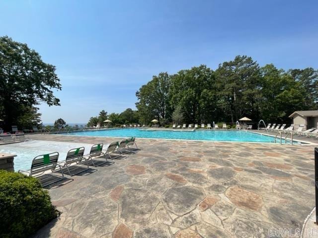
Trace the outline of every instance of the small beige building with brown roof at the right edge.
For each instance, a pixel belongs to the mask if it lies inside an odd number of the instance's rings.
[[[306,128],[318,127],[318,110],[315,111],[296,111],[289,116],[293,119],[293,124],[304,124]]]

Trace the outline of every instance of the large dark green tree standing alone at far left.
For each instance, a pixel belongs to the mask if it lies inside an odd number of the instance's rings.
[[[53,90],[61,90],[55,66],[42,61],[26,44],[0,37],[0,118],[4,129],[17,124],[23,109],[41,102],[60,105]]]

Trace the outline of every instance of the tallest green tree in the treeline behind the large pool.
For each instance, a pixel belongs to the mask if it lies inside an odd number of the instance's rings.
[[[259,65],[252,58],[237,56],[223,62],[216,72],[217,106],[233,123],[242,116],[258,118]]]

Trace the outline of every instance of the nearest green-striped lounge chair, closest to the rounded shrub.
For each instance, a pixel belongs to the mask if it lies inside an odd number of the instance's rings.
[[[58,182],[64,179],[64,174],[61,165],[58,164],[59,152],[53,152],[50,154],[39,155],[35,157],[32,161],[31,169],[28,171],[19,170],[18,172],[30,177],[38,178],[43,187],[48,186],[52,183]],[[54,171],[58,169],[61,171],[62,177],[54,176],[56,179],[48,179],[48,177],[43,176],[47,171]]]

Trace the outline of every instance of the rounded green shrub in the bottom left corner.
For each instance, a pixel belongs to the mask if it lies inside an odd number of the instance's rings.
[[[38,179],[0,170],[1,237],[28,237],[57,216]]]

